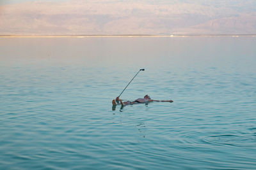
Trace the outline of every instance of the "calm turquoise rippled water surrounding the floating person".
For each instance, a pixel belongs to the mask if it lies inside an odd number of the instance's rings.
[[[256,169],[255,44],[0,38],[0,169]]]

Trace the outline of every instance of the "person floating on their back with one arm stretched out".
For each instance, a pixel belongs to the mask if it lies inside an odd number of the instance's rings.
[[[144,98],[136,99],[135,101],[125,101],[123,102],[122,99],[119,99],[119,97],[116,97],[115,100],[112,101],[113,106],[116,106],[116,104],[119,104],[119,102],[122,104],[122,106],[131,105],[131,104],[139,104],[139,103],[148,103],[152,101],[157,102],[173,102],[172,100],[169,101],[158,101],[158,100],[152,100],[148,95],[144,96]]]

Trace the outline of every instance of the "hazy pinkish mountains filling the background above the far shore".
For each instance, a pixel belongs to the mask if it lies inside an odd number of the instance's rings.
[[[0,0],[0,34],[256,34],[256,0]]]

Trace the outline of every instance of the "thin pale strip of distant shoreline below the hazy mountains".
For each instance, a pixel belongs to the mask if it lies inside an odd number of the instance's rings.
[[[0,38],[115,38],[115,37],[188,37],[188,36],[227,36],[227,37],[239,37],[239,36],[250,36],[256,37],[256,34],[173,34],[173,35],[150,35],[150,34],[139,34],[139,35],[0,35]]]

